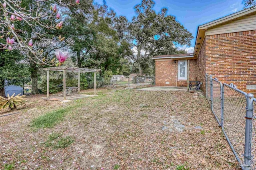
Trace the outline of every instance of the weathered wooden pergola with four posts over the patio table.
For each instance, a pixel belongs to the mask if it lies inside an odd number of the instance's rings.
[[[50,97],[49,92],[49,71],[63,71],[63,97],[66,100],[66,72],[78,72],[78,92],[80,92],[80,73],[83,72],[94,72],[94,95],[96,95],[96,72],[99,69],[89,69],[89,68],[79,68],[70,66],[58,66],[58,67],[48,67],[44,68],[47,72],[47,98]]]

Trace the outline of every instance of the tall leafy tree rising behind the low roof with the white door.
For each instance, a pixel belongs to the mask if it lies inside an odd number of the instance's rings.
[[[130,34],[135,39],[134,48],[136,55],[134,61],[138,65],[139,75],[143,76],[143,63],[160,51],[170,53],[164,49],[164,45],[174,46],[190,45],[192,34],[188,32],[174,16],[167,15],[167,8],[156,14],[153,10],[153,0],[142,0],[141,4],[134,7],[135,16],[129,25]],[[168,49],[168,48],[167,48]],[[143,53],[142,53],[143,52]]]

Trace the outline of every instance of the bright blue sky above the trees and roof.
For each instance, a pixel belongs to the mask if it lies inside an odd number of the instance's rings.
[[[167,7],[168,14],[176,16],[176,20],[182,23],[188,31],[196,37],[197,27],[204,23],[227,16],[234,12],[243,10],[242,0],[154,0],[156,5],[154,10],[159,12],[161,8]],[[103,0],[94,0],[99,4]],[[107,5],[112,8],[117,15],[126,16],[128,20],[134,16],[134,6],[140,4],[141,0],[106,0]],[[192,52],[195,45],[195,38],[191,41],[191,46],[179,46]]]

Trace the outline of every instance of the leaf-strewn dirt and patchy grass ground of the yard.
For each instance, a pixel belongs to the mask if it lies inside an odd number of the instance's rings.
[[[239,169],[198,93],[100,89],[96,97],[68,103],[40,97],[0,117],[1,170]],[[54,126],[33,127],[38,117],[60,109],[65,116]]]

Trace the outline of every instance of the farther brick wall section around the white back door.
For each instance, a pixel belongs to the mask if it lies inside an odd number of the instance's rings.
[[[174,60],[159,61],[156,62],[156,86],[176,86],[178,61],[174,63]],[[197,65],[196,60],[190,60],[189,64],[189,80],[194,81],[197,77]],[[166,84],[170,82],[170,84]],[[178,86],[187,86],[187,80],[178,80]]]

